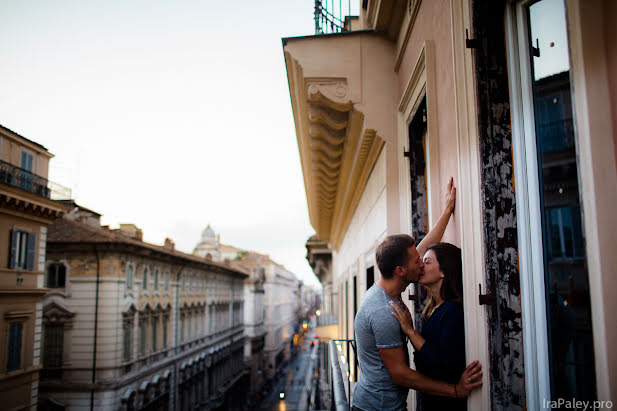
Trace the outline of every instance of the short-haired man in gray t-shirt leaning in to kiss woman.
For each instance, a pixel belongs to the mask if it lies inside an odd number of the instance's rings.
[[[412,237],[401,234],[386,237],[377,249],[377,266],[382,278],[366,292],[355,319],[360,365],[353,398],[355,410],[404,410],[409,388],[463,398],[482,385],[482,365],[478,361],[465,369],[457,384],[433,380],[409,368],[405,334],[389,306],[393,301],[407,309],[401,293],[422,274],[421,256],[427,247],[441,240],[454,212],[455,198],[456,188],[450,178],[446,207],[417,248]]]

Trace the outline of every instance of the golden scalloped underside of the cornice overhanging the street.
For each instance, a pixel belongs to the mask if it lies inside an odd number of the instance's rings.
[[[304,77],[286,52],[300,160],[317,235],[337,248],[383,147],[349,100],[346,78]]]

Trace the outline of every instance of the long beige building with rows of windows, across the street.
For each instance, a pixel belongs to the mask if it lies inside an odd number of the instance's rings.
[[[241,407],[242,271],[101,227],[70,204],[47,238],[40,400],[54,409]]]

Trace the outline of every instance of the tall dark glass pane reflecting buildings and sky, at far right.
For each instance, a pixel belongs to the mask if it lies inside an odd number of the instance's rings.
[[[551,395],[553,399],[595,400],[589,281],[563,0],[542,0],[529,7],[529,35]]]

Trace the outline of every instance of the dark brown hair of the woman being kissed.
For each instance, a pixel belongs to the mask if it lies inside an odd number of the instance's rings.
[[[433,250],[439,263],[439,271],[444,275],[441,283],[441,298],[444,301],[463,302],[463,261],[461,249],[450,243],[437,243],[428,247],[426,251]],[[425,317],[430,317],[435,306],[435,299],[429,294],[429,301],[422,312]]]

